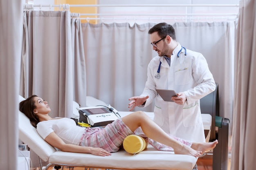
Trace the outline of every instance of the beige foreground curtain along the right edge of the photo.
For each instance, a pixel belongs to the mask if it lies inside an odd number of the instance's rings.
[[[256,167],[256,2],[242,0],[236,34],[231,170]]]

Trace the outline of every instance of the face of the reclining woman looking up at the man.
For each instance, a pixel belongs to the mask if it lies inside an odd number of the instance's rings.
[[[34,97],[34,102],[36,108],[34,109],[34,113],[36,114],[48,114],[51,109],[46,101],[44,101],[41,97]]]

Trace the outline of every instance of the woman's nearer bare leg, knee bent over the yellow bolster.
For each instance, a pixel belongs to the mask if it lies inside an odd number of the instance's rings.
[[[170,137],[162,128],[160,128],[150,117],[148,117],[144,112],[138,111],[131,113],[122,118],[124,124],[126,124],[132,132],[134,132],[138,127],[141,127],[145,135],[161,144],[172,147],[175,154],[191,155],[194,157],[199,157],[201,151],[194,150],[180,141],[177,141]]]

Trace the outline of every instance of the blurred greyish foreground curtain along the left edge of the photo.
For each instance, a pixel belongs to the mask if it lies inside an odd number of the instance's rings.
[[[18,170],[22,2],[0,0],[0,169]]]

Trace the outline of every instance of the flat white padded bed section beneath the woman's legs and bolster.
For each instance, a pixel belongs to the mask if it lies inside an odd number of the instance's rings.
[[[49,156],[49,163],[86,165],[91,168],[108,169],[161,169],[191,170],[197,159],[188,155],[175,155],[173,152],[155,150],[152,146],[136,155],[119,150],[108,157],[91,154],[57,151]]]

